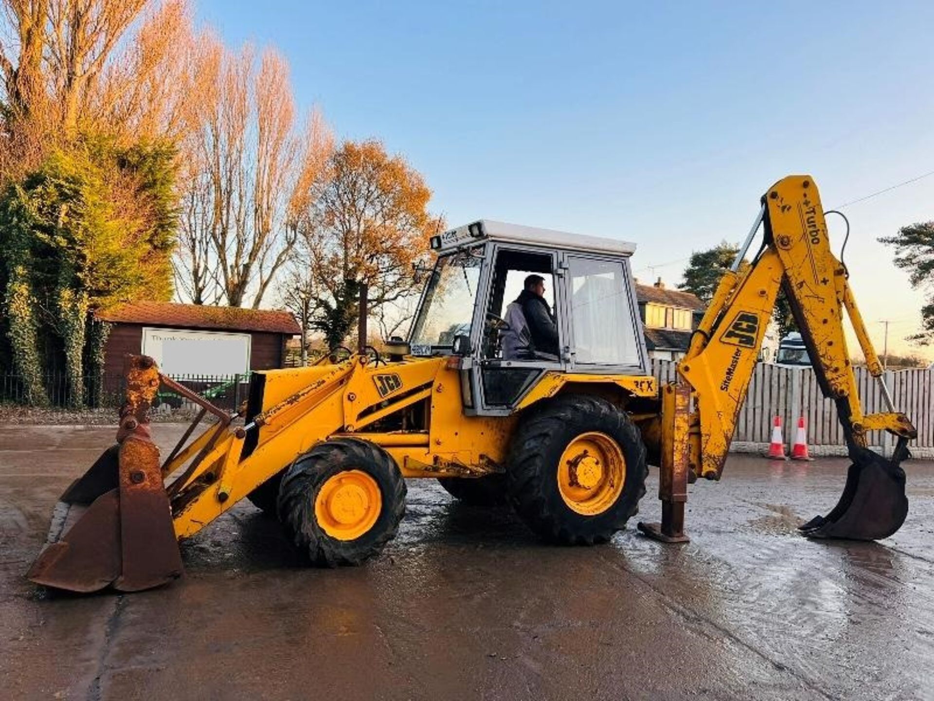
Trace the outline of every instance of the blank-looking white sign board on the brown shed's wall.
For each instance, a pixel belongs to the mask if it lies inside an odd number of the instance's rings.
[[[244,375],[249,334],[143,327],[143,354],[166,375]]]

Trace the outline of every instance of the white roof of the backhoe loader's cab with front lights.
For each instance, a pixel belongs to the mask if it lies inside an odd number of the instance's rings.
[[[551,249],[584,250],[593,253],[632,255],[636,245],[630,241],[600,236],[570,234],[554,229],[540,229],[506,222],[481,219],[449,229],[443,234],[432,236],[432,250],[437,253],[454,250],[480,240],[508,241],[509,243],[538,244]]]

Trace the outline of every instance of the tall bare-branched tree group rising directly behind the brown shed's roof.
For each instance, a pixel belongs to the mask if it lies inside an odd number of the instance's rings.
[[[298,240],[332,140],[317,112],[300,125],[288,73],[273,50],[205,49],[176,261],[195,303],[216,282],[227,304],[258,308]]]

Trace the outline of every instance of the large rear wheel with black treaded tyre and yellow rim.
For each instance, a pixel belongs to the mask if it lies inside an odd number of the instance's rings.
[[[547,540],[606,542],[639,511],[645,446],[629,417],[592,395],[560,396],[520,423],[506,472],[519,517]]]

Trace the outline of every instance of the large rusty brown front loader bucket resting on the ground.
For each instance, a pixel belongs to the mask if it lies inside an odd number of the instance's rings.
[[[117,445],[56,505],[46,546],[26,575],[37,584],[135,592],[181,575],[159,449],[149,437],[147,412],[159,387],[158,370],[148,358],[134,358],[127,380]]]

